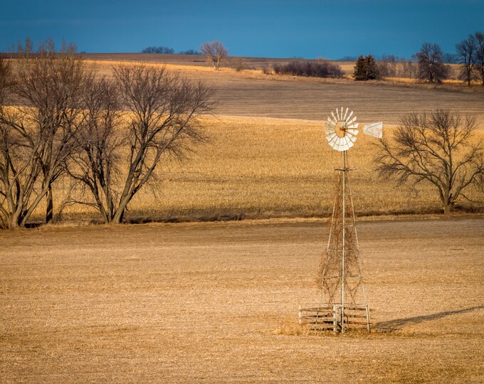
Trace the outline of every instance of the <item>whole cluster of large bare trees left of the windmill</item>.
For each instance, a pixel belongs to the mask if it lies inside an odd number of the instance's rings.
[[[89,193],[65,203],[95,207],[120,223],[128,204],[164,156],[183,156],[203,139],[199,116],[214,88],[162,67],[117,66],[100,77],[75,54],[47,41],[36,54],[0,58],[0,227],[26,225],[53,188],[70,176]]]

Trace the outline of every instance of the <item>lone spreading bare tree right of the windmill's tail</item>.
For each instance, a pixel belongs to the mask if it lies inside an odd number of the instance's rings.
[[[393,142],[383,139],[379,144],[379,174],[400,184],[431,183],[443,212],[449,213],[465,188],[484,174],[483,143],[472,141],[476,128],[474,117],[448,110],[409,114],[401,119]]]

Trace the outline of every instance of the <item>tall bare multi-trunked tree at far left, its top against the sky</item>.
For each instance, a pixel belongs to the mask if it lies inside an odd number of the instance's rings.
[[[21,50],[23,57],[16,62],[13,92],[21,106],[3,116],[9,136],[15,137],[15,155],[23,152],[23,159],[11,156],[7,167],[10,175],[16,174],[11,208],[19,210],[16,225],[24,225],[43,198],[47,200],[46,222],[53,219],[53,183],[65,173],[65,161],[78,144],[82,94],[90,76],[73,46],[63,46],[56,53],[53,41],[48,40],[38,55],[31,55],[30,50]]]

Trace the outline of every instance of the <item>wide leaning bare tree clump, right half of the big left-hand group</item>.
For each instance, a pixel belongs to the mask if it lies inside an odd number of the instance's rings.
[[[182,156],[203,138],[198,117],[211,112],[214,95],[204,83],[165,68],[119,66],[114,72],[119,94],[106,80],[92,87],[86,103],[87,137],[70,167],[70,174],[93,193],[89,204],[107,223],[122,222],[128,204],[152,180],[162,156]],[[115,127],[117,97],[128,111],[122,129]],[[122,151],[127,154],[121,156]]]

